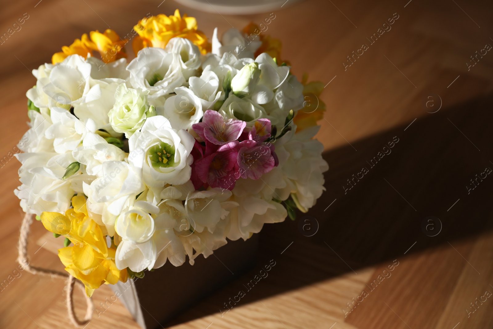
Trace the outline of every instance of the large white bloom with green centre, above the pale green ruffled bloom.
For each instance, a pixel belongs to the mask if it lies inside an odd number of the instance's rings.
[[[149,97],[172,93],[185,82],[180,57],[161,48],[144,48],[127,66],[134,88],[149,90]]]

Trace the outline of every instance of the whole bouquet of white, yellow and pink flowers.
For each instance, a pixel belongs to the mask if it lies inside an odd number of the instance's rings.
[[[210,43],[176,10],[124,38],[84,34],[33,70],[15,194],[65,237],[60,260],[88,296],[315,204],[325,106],[304,103],[322,87],[299,82],[280,46],[253,24]]]

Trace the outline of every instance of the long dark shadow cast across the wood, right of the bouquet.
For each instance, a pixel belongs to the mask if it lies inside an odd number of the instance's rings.
[[[327,190],[317,205],[296,221],[265,225],[253,269],[166,325],[490,230],[493,177],[485,169],[493,169],[492,101],[426,114],[325,153]],[[276,265],[268,276],[248,285],[271,259]],[[239,291],[245,296],[235,305]]]

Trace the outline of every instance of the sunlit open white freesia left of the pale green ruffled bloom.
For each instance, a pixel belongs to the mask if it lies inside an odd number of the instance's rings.
[[[74,150],[88,132],[96,131],[96,124],[91,118],[84,124],[67,110],[52,110],[51,121],[53,124],[44,135],[47,139],[54,139],[53,147],[57,153]]]

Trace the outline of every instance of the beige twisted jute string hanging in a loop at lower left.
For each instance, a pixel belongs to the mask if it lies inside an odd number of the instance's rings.
[[[29,258],[27,255],[28,237],[31,228],[31,223],[33,222],[33,217],[34,217],[33,214],[26,214],[24,215],[24,219],[22,219],[21,233],[19,236],[19,256],[17,257],[17,261],[25,270],[27,270],[30,273],[41,274],[41,275],[50,276],[52,278],[56,277],[56,278],[67,280],[67,311],[69,314],[69,319],[75,327],[83,328],[89,323],[89,321],[91,321],[92,314],[94,311],[94,304],[91,298],[87,297],[84,289],[84,285],[79,280],[75,280],[75,278],[71,276],[69,273],[54,271],[48,268],[31,266],[29,263]],[[82,291],[84,292],[84,296],[86,297],[87,309],[86,309],[86,315],[84,317],[84,320],[79,320],[75,315],[73,309],[73,286],[75,283],[77,283],[77,285],[82,289]]]

